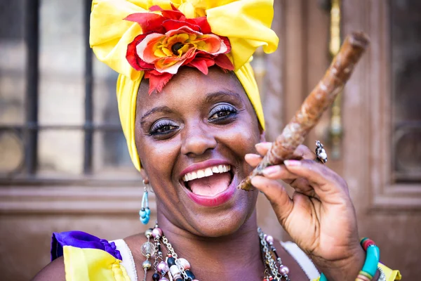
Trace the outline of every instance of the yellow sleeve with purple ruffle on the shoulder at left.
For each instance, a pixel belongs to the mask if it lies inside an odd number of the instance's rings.
[[[53,233],[51,259],[64,256],[67,281],[130,281],[114,242],[81,231]]]

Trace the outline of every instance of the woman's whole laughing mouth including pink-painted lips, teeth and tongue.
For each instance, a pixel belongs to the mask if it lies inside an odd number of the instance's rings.
[[[215,207],[234,195],[232,166],[227,162],[208,160],[189,166],[182,172],[187,195],[197,204]]]

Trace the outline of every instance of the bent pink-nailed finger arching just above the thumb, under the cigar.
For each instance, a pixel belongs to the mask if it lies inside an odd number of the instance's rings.
[[[331,203],[344,198],[349,200],[347,183],[327,166],[311,160],[286,160],[284,164],[290,173],[305,178],[320,200]]]

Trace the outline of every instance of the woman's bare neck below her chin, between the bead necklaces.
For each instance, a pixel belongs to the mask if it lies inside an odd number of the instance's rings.
[[[255,211],[238,230],[222,237],[194,235],[175,226],[162,214],[158,214],[158,221],[175,253],[189,261],[197,279],[262,279],[264,266]],[[241,278],[241,275],[244,278]]]

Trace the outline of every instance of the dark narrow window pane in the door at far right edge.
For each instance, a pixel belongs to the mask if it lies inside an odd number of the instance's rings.
[[[390,1],[394,180],[421,182],[421,2]]]

